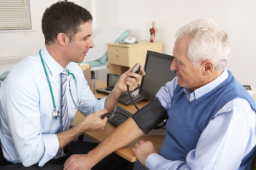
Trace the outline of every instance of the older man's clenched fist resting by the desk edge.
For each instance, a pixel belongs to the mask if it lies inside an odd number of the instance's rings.
[[[135,154],[138,161],[140,161],[144,166],[148,156],[153,153],[157,153],[157,151],[151,141],[141,140],[135,145],[135,148],[133,148],[133,154]]]

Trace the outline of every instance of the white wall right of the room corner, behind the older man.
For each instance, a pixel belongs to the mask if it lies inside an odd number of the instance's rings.
[[[84,0],[95,1],[95,0]],[[151,22],[159,29],[158,41],[163,41],[163,53],[171,54],[174,34],[179,27],[199,19],[214,19],[229,31],[231,54],[227,69],[241,84],[256,87],[256,1],[253,0],[97,0],[95,16],[97,27],[131,29],[130,36],[149,39]],[[256,94],[252,95],[256,101]]]

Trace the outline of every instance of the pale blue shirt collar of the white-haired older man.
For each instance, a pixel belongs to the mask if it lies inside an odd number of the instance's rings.
[[[191,89],[184,88],[184,92],[186,94],[186,97],[189,99],[189,102],[192,102],[196,99],[199,99],[199,97],[203,96],[204,94],[207,94],[209,91],[212,91],[215,87],[219,86],[227,77],[229,76],[227,69],[224,69],[223,73],[217,77],[217,79],[214,79],[213,81],[209,82],[209,84],[206,84],[199,89],[196,89],[195,91]]]

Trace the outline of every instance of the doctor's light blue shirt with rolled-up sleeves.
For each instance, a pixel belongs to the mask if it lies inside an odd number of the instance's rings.
[[[52,84],[56,109],[62,114],[60,73],[64,68],[49,55],[45,47],[41,54]],[[71,62],[66,68],[77,80],[78,97],[82,102],[78,110],[85,116],[103,110],[105,98],[100,101],[95,99],[80,67]],[[72,75],[69,75],[67,89],[71,78]],[[70,87],[77,102],[73,82],[70,81]],[[77,109],[71,109],[75,104],[69,90],[66,95],[69,120],[72,124]],[[56,134],[61,132],[62,122],[60,118],[55,120],[52,117],[52,96],[39,53],[14,66],[1,84],[0,101],[0,139],[5,159],[14,164],[22,163],[24,166],[37,163],[43,166],[53,159],[59,149]]]

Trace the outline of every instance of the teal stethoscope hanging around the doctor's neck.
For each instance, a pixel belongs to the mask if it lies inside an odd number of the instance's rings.
[[[44,73],[47,77],[47,81],[48,81],[48,84],[49,84],[49,90],[51,91],[51,95],[52,95],[52,103],[53,103],[53,107],[54,107],[54,110],[52,111],[52,116],[53,116],[53,119],[57,119],[58,117],[60,117],[60,111],[57,111],[56,110],[56,105],[55,105],[55,100],[54,100],[54,96],[53,96],[53,93],[52,93],[52,84],[51,82],[49,81],[49,76],[47,74],[47,70],[45,68],[45,65],[44,65],[44,60],[42,59],[42,55],[41,55],[41,51],[42,49],[39,51],[39,55],[40,55],[40,58],[41,58],[41,62],[42,62],[42,65],[44,66]],[[75,89],[77,90],[77,80],[75,79],[75,75],[70,73],[69,70],[67,70],[67,76],[72,76],[72,78],[70,79],[70,81],[72,79],[75,80]],[[70,89],[70,81],[69,81],[69,89]],[[71,94],[71,97],[72,97],[72,101],[74,102],[75,104],[75,100],[73,99],[73,96],[72,96],[72,92],[71,92],[71,89],[70,89],[70,94]],[[79,101],[79,98],[78,98],[78,90],[77,90],[77,104],[75,104],[75,107],[71,107],[71,109],[78,109],[80,106],[82,105],[82,102]]]

